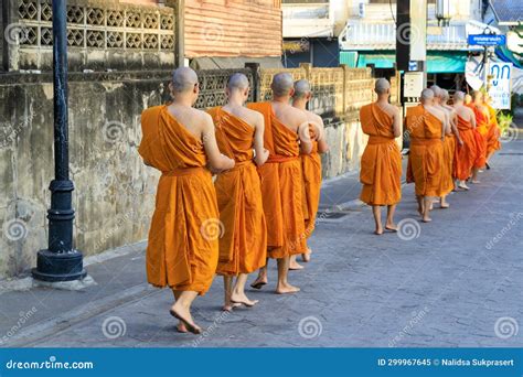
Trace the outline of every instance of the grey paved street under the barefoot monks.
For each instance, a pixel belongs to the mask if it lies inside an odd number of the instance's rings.
[[[481,184],[451,194],[451,208],[434,211],[431,224],[418,222],[414,186],[405,186],[399,234],[373,235],[369,207],[345,206],[339,218],[329,211],[310,241],[312,261],[291,272],[301,292],[273,293],[273,261],[270,284],[248,292],[260,303],[228,314],[220,311],[216,279],[195,303],[194,317],[207,328],[201,336],[174,331],[171,293],[143,283],[139,248],[89,266],[98,286],[85,292],[0,295],[0,340],[19,313],[36,309],[2,346],[521,347],[522,158],[522,140],[504,143]],[[328,183],[322,207],[354,203],[357,187],[355,174]]]

